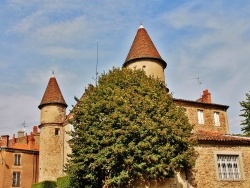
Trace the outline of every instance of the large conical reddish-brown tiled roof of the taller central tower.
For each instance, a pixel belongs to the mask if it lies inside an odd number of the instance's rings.
[[[163,64],[164,68],[167,66],[167,63],[161,58],[146,29],[141,25],[123,66],[126,66],[132,60],[145,58],[157,59]]]

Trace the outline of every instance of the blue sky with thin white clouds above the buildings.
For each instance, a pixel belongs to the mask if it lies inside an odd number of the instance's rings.
[[[99,74],[121,67],[141,22],[168,63],[174,97],[196,100],[208,89],[214,103],[230,106],[230,132],[240,133],[249,18],[247,0],[0,0],[0,133],[39,125],[52,70],[70,110],[95,83],[97,41]]]

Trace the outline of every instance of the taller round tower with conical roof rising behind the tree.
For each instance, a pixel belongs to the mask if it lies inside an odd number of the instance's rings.
[[[140,25],[123,67],[143,69],[147,75],[165,83],[166,66],[167,63],[161,58],[146,29]]]

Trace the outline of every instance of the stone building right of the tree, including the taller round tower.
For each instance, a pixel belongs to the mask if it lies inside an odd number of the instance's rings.
[[[147,31],[140,26],[123,67],[143,69],[147,75],[165,81],[166,65]],[[228,106],[212,103],[208,90],[196,101],[174,99],[174,102],[186,109],[189,122],[194,125],[198,158],[191,174],[178,173],[176,178],[153,187],[250,187],[250,138],[229,135]]]

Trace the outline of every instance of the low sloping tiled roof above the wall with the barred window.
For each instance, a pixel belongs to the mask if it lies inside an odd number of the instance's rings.
[[[250,145],[250,137],[228,135],[215,131],[202,131],[196,133],[198,143],[221,143],[221,144],[246,144]]]

